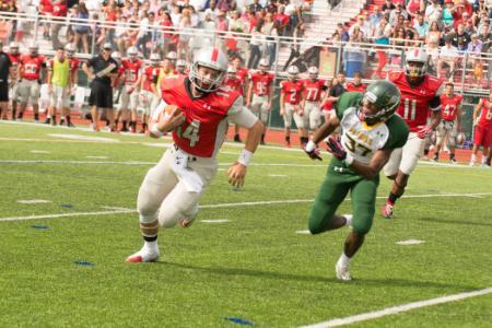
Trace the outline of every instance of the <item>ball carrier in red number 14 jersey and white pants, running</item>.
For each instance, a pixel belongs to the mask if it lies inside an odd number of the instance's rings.
[[[219,48],[202,48],[195,55],[189,77],[166,79],[162,83],[162,103],[156,109],[153,137],[173,131],[174,143],[140,187],[137,209],[143,247],[128,262],[149,262],[159,258],[159,225],[177,223],[189,226],[198,202],[218,172],[215,159],[227,130],[227,121],[248,129],[245,149],[227,171],[234,187],[243,186],[246,167],[256,151],[262,124],[244,107],[239,93],[221,86],[227,70],[227,57]],[[163,115],[168,108],[168,115]]]

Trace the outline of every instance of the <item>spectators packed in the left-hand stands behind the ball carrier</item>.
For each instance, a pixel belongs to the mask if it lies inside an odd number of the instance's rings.
[[[313,0],[0,0],[0,10],[43,14],[37,26],[27,20],[2,20],[0,40],[23,43],[38,34],[57,49],[73,44],[90,54],[110,43],[126,56],[136,46],[144,58],[173,50],[190,60],[192,49],[214,44],[248,68],[259,58],[276,60],[278,36],[291,36],[303,24]],[[72,20],[69,22],[69,20]],[[86,21],[85,20],[90,20]],[[58,23],[59,21],[59,23]],[[33,31],[37,27],[37,31]],[[192,28],[192,30],[189,30]],[[97,51],[97,50],[96,50]]]

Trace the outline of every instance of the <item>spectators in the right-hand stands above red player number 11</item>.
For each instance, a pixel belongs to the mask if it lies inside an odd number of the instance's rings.
[[[359,15],[350,27],[339,24],[331,40],[384,45],[385,51],[376,51],[376,75],[388,62],[400,63],[398,51],[388,56],[388,48],[425,47],[433,73],[449,79],[462,68],[467,54],[468,69],[480,84],[488,63],[484,57],[491,50],[491,17],[490,0],[386,0]]]

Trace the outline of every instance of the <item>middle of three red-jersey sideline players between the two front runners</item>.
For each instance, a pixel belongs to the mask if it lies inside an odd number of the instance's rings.
[[[288,80],[280,82],[280,116],[283,116],[285,127],[285,147],[291,147],[291,125],[294,117],[301,136],[301,143],[307,143],[304,137],[304,109],[301,104],[304,102],[304,86],[298,80],[298,68],[290,66],[288,68]]]

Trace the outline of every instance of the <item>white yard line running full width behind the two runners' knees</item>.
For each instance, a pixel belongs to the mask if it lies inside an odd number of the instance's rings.
[[[427,198],[427,197],[475,197],[475,196],[492,196],[492,192],[478,192],[478,194],[431,194],[431,195],[408,195],[402,198]],[[379,196],[378,199],[386,199],[386,196]],[[350,200],[345,198],[344,201]],[[312,202],[314,199],[288,199],[288,200],[265,200],[265,201],[245,201],[245,202],[225,202],[215,204],[200,206],[200,209],[220,209],[220,208],[236,208],[236,207],[254,207],[262,204],[282,204],[282,203],[300,203]],[[28,216],[10,216],[0,218],[0,222],[5,221],[26,221],[37,219],[52,219],[52,218],[68,218],[68,216],[91,216],[91,215],[107,215],[118,213],[136,213],[137,210],[127,208],[104,207],[105,209],[115,209],[114,211],[98,211],[98,212],[72,212],[72,213],[58,213],[58,214],[45,214],[45,215],[28,215]]]

